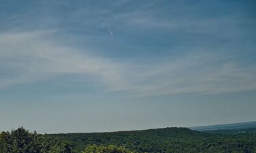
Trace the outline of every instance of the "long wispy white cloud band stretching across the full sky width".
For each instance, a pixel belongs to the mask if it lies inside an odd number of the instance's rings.
[[[93,50],[54,41],[55,31],[4,33],[0,36],[1,88],[51,80],[61,75],[90,75],[105,92],[130,96],[213,94],[255,90],[256,66],[219,52],[183,54],[162,61],[113,61]]]

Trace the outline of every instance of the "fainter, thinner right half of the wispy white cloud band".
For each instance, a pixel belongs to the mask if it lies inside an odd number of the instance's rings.
[[[208,54],[211,56],[211,54]],[[255,65],[244,67],[230,59],[210,59],[208,56],[193,58],[186,56],[182,61],[169,61],[154,65],[143,73],[137,88],[140,95],[216,94],[255,90]],[[150,84],[147,84],[150,82]]]

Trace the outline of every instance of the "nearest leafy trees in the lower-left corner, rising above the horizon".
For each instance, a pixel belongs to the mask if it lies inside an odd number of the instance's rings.
[[[0,135],[1,153],[71,153],[72,143],[46,135],[29,133],[23,127],[2,132]]]

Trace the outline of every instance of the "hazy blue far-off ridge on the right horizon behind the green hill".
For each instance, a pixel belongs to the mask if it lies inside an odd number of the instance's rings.
[[[240,122],[232,124],[218,124],[218,125],[209,125],[209,126],[194,126],[189,129],[195,131],[214,131],[214,130],[235,130],[235,129],[251,129],[256,128],[255,122]]]

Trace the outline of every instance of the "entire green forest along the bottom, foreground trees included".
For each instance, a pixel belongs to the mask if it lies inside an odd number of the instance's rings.
[[[23,127],[0,135],[1,153],[32,152],[230,152],[255,153],[256,129],[199,132],[187,128],[108,133],[30,133]]]

